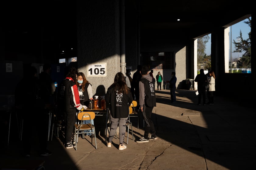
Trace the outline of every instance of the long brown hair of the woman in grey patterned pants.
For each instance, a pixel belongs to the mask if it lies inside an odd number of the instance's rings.
[[[130,90],[126,85],[126,79],[122,72],[116,73],[116,76],[114,78],[114,83],[110,85],[109,88],[112,88],[112,87],[114,87],[115,90],[118,90],[118,93],[128,94]]]

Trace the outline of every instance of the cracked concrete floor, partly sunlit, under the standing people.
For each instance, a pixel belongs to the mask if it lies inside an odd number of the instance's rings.
[[[256,167],[255,106],[245,107],[218,96],[214,97],[214,105],[198,106],[195,91],[190,90],[176,90],[175,104],[170,102],[169,90],[157,91],[156,95],[157,107],[153,109],[152,120],[157,140],[136,143],[130,134],[127,148],[119,151],[119,139],[114,138],[112,147],[108,148],[105,135],[99,130],[98,149],[94,143],[91,145],[89,137],[78,139],[77,151],[64,148],[61,140],[53,137],[49,142],[53,155],[32,154],[30,158],[22,158],[20,142],[10,141],[9,147],[2,147],[1,159],[45,160],[46,170],[251,170]],[[139,128],[137,118],[131,121],[135,140],[141,138],[143,121]]]

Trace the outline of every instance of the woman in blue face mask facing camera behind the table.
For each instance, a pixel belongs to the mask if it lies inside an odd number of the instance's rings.
[[[89,105],[89,99],[93,99],[93,94],[92,94],[92,85],[86,80],[85,74],[82,72],[79,72],[77,75],[77,87],[78,87],[78,92],[79,92],[79,97],[80,97],[80,103],[82,105],[85,105],[88,107]],[[85,120],[85,123],[90,123],[90,120]],[[92,119],[92,124],[94,124],[94,121]],[[91,131],[88,131],[91,132]],[[94,138],[94,134],[88,133],[88,135],[91,138]]]

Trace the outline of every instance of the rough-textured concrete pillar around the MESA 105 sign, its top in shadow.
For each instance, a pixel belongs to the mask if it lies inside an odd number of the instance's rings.
[[[94,95],[105,95],[120,72],[119,1],[77,3],[78,70],[85,73]],[[89,64],[105,64],[105,75],[89,76]]]

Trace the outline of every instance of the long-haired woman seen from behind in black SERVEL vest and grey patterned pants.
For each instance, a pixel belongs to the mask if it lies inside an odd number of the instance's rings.
[[[129,116],[129,106],[133,101],[133,96],[130,88],[126,85],[126,78],[123,73],[116,73],[114,83],[108,88],[105,99],[106,108],[110,110],[111,121],[107,147],[111,147],[112,139],[119,124],[119,150],[126,149],[126,145],[123,144],[126,132],[125,124]]]

